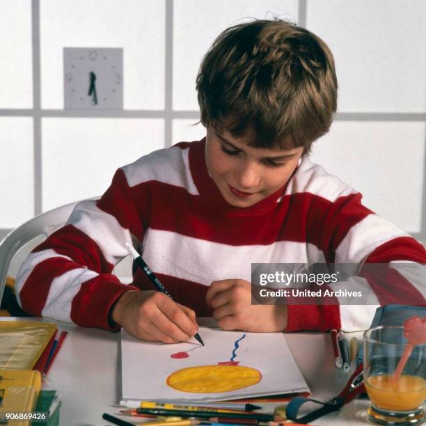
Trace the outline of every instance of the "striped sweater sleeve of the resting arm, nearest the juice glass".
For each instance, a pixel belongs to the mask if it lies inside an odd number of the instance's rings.
[[[425,248],[395,224],[368,210],[361,194],[337,198],[322,217],[317,246],[328,263],[353,270],[330,290],[356,290],[363,304],[289,305],[287,331],[368,329],[378,306],[425,304]],[[380,264],[380,265],[377,265]]]

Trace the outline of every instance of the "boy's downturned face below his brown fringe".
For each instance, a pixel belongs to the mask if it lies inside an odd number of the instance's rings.
[[[289,136],[290,137],[290,136]],[[223,198],[235,207],[250,207],[283,187],[297,167],[303,147],[288,150],[252,148],[247,136],[207,127],[207,170]]]

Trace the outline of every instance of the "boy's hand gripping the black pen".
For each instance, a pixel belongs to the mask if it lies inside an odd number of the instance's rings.
[[[155,291],[125,292],[111,317],[135,338],[153,342],[182,342],[198,331],[194,310]]]

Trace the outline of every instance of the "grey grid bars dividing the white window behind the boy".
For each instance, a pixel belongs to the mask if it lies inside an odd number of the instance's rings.
[[[166,49],[165,49],[165,99],[163,111],[77,111],[65,109],[41,109],[40,77],[40,0],[31,0],[32,49],[33,49],[33,109],[0,109],[0,117],[30,116],[33,118],[34,146],[34,214],[42,212],[42,130],[41,120],[47,117],[61,118],[162,118],[164,119],[164,147],[172,145],[172,124],[174,119],[199,120],[199,111],[173,110],[173,0],[166,1]],[[299,25],[306,27],[308,0],[299,0]],[[337,113],[338,121],[416,121],[426,123],[426,113]],[[426,143],[426,141],[425,141]],[[426,164],[426,150],[424,164]],[[426,166],[423,170],[423,203],[420,232],[411,235],[426,240]],[[0,228],[0,239],[11,229]]]

